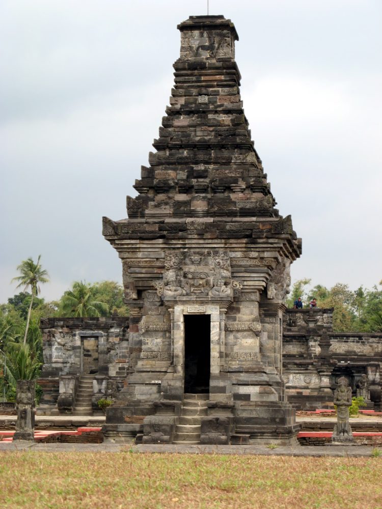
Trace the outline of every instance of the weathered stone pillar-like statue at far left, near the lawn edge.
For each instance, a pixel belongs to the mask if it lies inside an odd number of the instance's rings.
[[[35,439],[35,380],[17,380],[16,382],[16,432],[13,440]]]

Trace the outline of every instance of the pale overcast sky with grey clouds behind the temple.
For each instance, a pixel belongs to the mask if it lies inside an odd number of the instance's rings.
[[[42,255],[56,299],[122,281],[103,215],[148,165],[169,104],[176,25],[206,0],[2,0],[0,302]],[[280,213],[303,238],[292,280],[382,279],[382,2],[210,0],[236,26],[241,97]]]

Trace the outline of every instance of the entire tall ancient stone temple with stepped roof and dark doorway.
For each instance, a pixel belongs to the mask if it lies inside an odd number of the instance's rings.
[[[144,443],[289,443],[282,319],[301,239],[251,140],[233,23],[191,16],[178,29],[156,152],[128,219],[103,218],[130,308],[129,374],[105,436],[135,436],[146,416]]]

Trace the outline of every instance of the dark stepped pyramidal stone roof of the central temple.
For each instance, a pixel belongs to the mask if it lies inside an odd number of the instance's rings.
[[[290,216],[283,218],[275,208],[244,115],[233,23],[221,15],[190,16],[178,29],[175,84],[153,143],[156,152],[150,152],[150,166],[142,166],[141,179],[135,181],[138,196],[127,196],[129,219],[103,218],[104,236],[112,241],[116,236],[282,235],[289,238],[288,256],[295,259],[301,239]],[[198,228],[197,218],[208,220]],[[235,226],[227,228],[232,221]]]

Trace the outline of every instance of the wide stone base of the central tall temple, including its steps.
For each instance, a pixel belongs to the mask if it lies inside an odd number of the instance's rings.
[[[234,404],[211,401],[202,394],[185,397],[183,402],[161,400],[152,406],[131,402],[108,408],[102,428],[105,440],[127,443],[137,439],[144,444],[297,444],[299,426],[288,403]],[[143,412],[151,413],[144,416]]]

